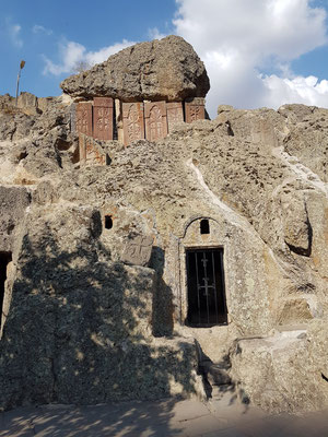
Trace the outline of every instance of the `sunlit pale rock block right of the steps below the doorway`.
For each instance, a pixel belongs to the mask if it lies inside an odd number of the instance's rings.
[[[267,411],[320,410],[328,402],[326,347],[327,320],[239,340],[232,355],[234,378],[250,402]]]

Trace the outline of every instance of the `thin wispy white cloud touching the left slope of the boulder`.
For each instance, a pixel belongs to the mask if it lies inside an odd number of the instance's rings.
[[[74,42],[63,42],[59,45],[59,63],[52,62],[44,56],[45,68],[44,74],[59,75],[62,73],[71,73],[79,63],[94,66],[95,63],[105,61],[109,56],[117,51],[129,47],[136,43],[124,39],[121,43],[116,43],[108,47],[103,47],[97,51],[87,51],[82,44]]]

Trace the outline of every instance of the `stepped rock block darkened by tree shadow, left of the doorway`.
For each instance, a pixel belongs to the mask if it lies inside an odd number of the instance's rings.
[[[0,342],[1,408],[195,390],[192,343],[152,336],[155,272],[98,252],[101,232],[90,206],[31,211]]]

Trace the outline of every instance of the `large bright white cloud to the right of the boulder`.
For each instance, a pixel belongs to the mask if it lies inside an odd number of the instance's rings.
[[[176,33],[204,61],[211,81],[208,109],[278,107],[301,102],[328,106],[327,81],[295,78],[290,62],[327,44],[326,12],[311,0],[176,0]],[[274,68],[279,75],[263,75]]]

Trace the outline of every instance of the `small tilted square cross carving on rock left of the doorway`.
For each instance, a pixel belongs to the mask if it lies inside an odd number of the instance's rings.
[[[137,265],[149,263],[153,246],[153,237],[137,235],[127,240],[122,252],[122,262]]]

